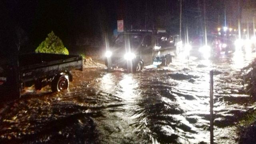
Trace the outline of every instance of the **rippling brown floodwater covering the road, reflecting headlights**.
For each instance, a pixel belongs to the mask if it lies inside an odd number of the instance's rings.
[[[236,143],[236,123],[256,105],[248,103],[238,78],[254,55],[179,56],[169,66],[147,66],[136,74],[104,68],[74,71],[65,92],[27,88],[22,98],[3,105],[0,143],[209,143],[212,69],[214,140]]]

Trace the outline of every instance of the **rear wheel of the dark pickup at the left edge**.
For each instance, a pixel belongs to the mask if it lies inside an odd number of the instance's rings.
[[[69,80],[67,75],[57,76],[53,79],[51,88],[52,92],[60,92],[66,90],[69,87]]]

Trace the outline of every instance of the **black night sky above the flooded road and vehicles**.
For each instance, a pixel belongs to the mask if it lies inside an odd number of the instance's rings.
[[[199,34],[203,18],[203,0],[183,0],[182,30],[188,25],[190,35]],[[111,38],[116,20],[124,20],[125,29],[165,28],[179,31],[178,0],[1,0],[1,51],[11,47],[17,30],[25,42],[21,52],[32,52],[52,30],[64,45],[72,47],[79,38],[95,38],[102,42],[104,34]],[[255,0],[241,0],[242,8],[256,8]],[[208,29],[224,24],[236,26],[238,0],[206,0]],[[146,21],[146,26],[145,26]],[[8,43],[8,44],[6,44]]]

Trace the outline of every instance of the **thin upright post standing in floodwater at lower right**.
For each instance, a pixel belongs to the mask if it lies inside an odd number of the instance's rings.
[[[213,70],[210,71],[210,144],[213,144]]]

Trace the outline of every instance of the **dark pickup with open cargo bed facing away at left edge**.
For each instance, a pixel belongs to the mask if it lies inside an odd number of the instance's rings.
[[[14,92],[35,85],[36,90],[50,85],[53,92],[68,89],[72,74],[70,70],[83,69],[81,56],[63,54],[24,54],[18,56],[17,64],[0,66],[0,93]]]

